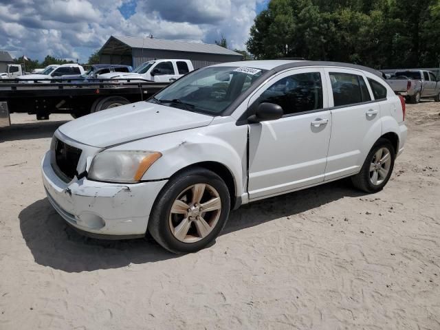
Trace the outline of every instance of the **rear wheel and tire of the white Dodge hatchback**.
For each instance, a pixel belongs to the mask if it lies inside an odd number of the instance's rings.
[[[384,154],[386,154],[384,151],[388,151],[389,162],[387,159],[386,161],[377,163],[378,159],[376,158],[379,151],[382,151],[382,155],[379,156],[382,159],[384,159]],[[371,193],[382,190],[390,179],[391,173],[393,173],[394,161],[395,150],[393,144],[391,144],[391,142],[386,139],[380,138],[379,140],[377,140],[373,148],[371,148],[369,155],[366,156],[365,162],[362,165],[360,172],[357,175],[353,175],[353,177],[351,177],[353,186],[362,191]],[[373,164],[375,164],[374,168]],[[386,174],[384,173],[384,170],[387,171]],[[376,177],[374,173],[376,173]],[[376,181],[376,184],[373,183],[374,181]]]

